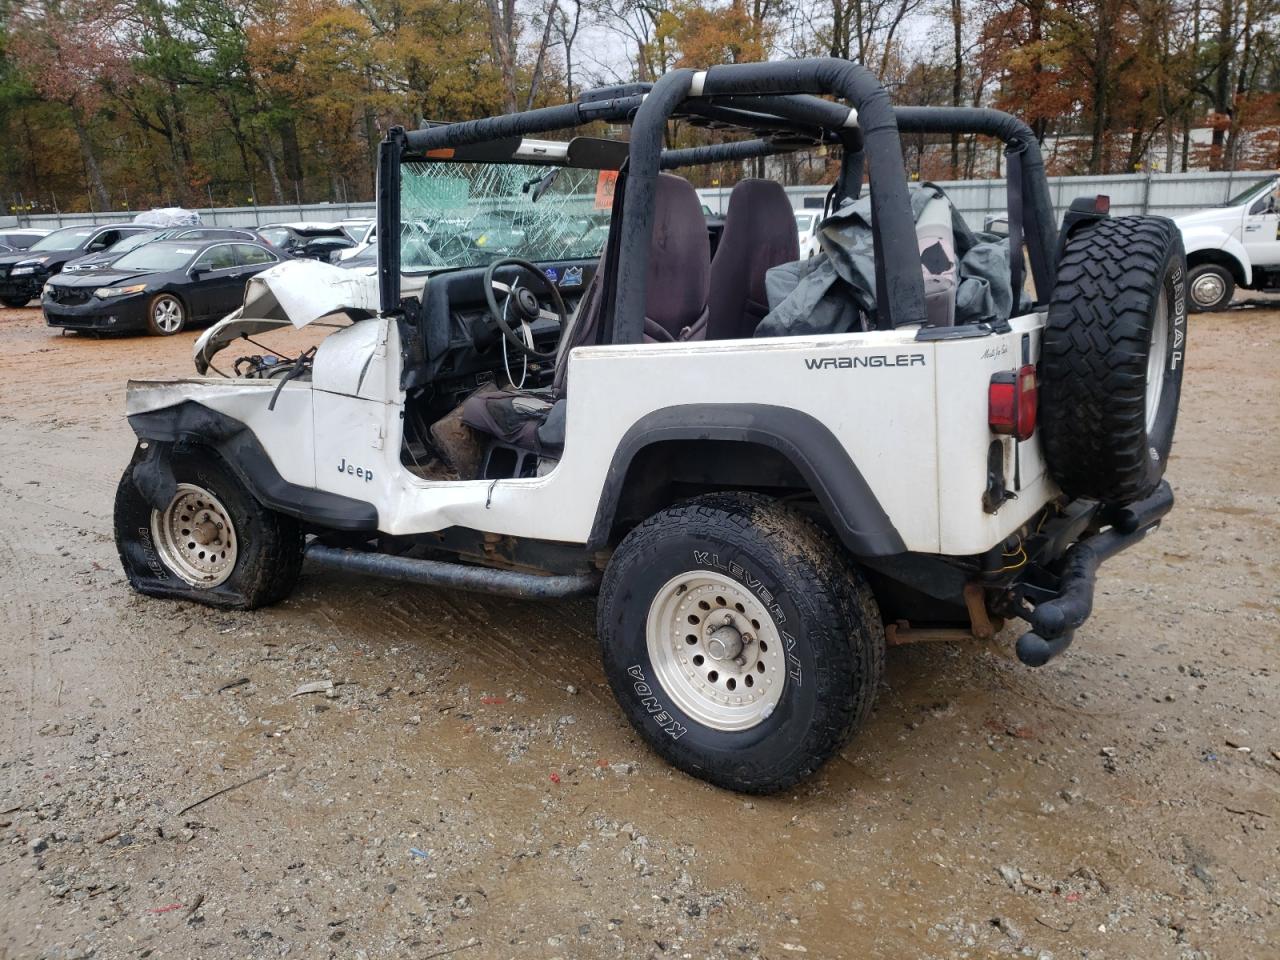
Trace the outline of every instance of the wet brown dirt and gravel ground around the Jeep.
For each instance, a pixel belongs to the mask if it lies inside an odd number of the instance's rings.
[[[1193,317],[1178,506],[1068,655],[892,649],[769,799],[636,740],[589,603],[132,594],[124,380],[193,339],[0,311],[0,957],[1280,957],[1280,311]]]

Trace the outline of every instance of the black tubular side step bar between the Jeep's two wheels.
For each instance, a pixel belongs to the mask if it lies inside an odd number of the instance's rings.
[[[492,570],[466,563],[394,557],[372,550],[352,550],[325,547],[311,541],[306,557],[312,563],[330,570],[369,573],[404,584],[449,586],[454,590],[515,596],[521,600],[557,600],[571,596],[594,596],[600,589],[599,573],[567,576],[541,576],[516,570]]]

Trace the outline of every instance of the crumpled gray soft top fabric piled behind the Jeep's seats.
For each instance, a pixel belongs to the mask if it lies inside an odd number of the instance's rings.
[[[932,183],[910,184],[929,326],[997,323],[1012,314],[1009,239],[975,233]],[[874,329],[870,197],[846,201],[819,228],[822,252],[765,274],[769,312],[756,337]]]

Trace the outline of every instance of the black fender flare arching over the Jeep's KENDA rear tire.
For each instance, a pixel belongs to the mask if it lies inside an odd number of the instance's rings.
[[[765,403],[686,403],[655,410],[632,424],[613,452],[589,549],[608,545],[631,461],[645,447],[663,440],[737,440],[771,447],[809,484],[852,554],[887,557],[906,552],[884,508],[831,430],[809,413]]]

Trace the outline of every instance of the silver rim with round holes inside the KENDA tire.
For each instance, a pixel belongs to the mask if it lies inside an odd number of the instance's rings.
[[[649,662],[666,694],[712,730],[768,719],[786,686],[786,652],[760,599],[727,576],[692,570],[649,605]]]

